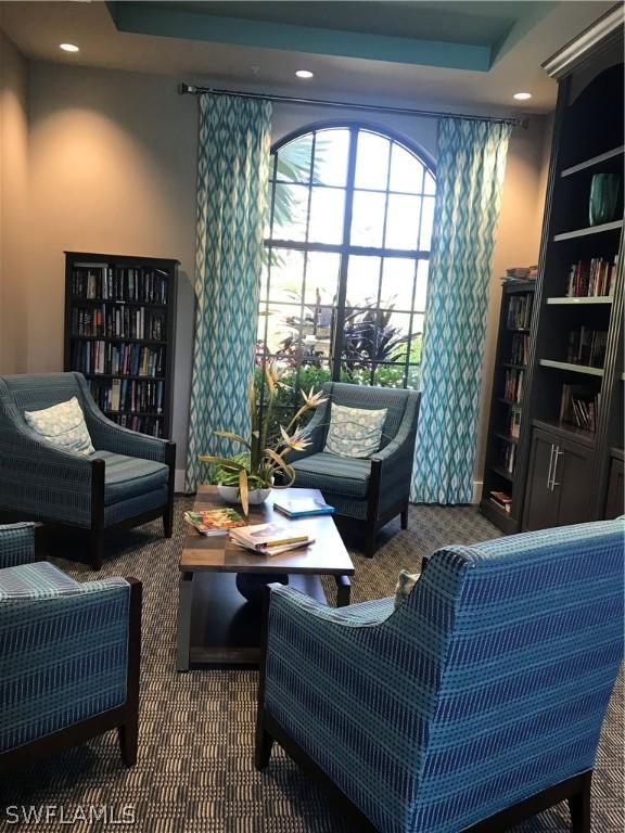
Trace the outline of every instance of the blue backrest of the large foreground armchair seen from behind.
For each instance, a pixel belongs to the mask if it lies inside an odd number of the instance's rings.
[[[605,521],[430,559],[391,619],[418,643],[408,829],[461,830],[594,766],[623,657],[623,540]]]

